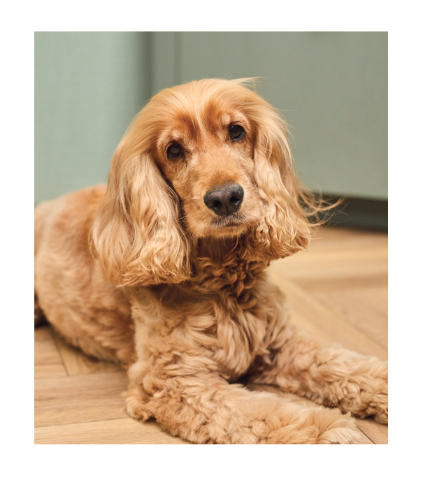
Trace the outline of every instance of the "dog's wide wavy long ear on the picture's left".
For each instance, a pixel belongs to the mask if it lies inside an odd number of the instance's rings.
[[[118,286],[182,282],[190,274],[189,245],[178,221],[178,198],[151,154],[139,140],[132,144],[129,134],[113,156],[92,225],[94,255]]]

